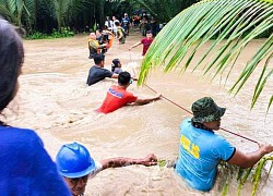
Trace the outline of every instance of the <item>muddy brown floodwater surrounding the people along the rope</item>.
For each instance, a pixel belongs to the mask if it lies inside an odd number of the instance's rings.
[[[115,41],[106,53],[106,69],[111,60],[119,58],[122,70],[138,75],[142,47],[129,51],[128,48],[141,39],[136,30],[127,38],[124,45]],[[179,74],[171,71],[164,74],[162,69],[151,73],[147,85],[177,105],[190,110],[191,103],[204,96],[215,99],[226,107],[222,127],[239,133],[254,140],[273,144],[273,107],[265,115],[273,81],[270,78],[257,106],[250,110],[251,96],[258,74],[248,81],[241,91],[234,97],[228,89],[239,71],[262,40],[254,40],[238,59],[235,71],[227,83],[219,84],[221,77],[211,82],[202,76],[201,70]],[[206,50],[209,46],[204,46]],[[24,40],[25,61],[20,76],[20,90],[5,110],[10,124],[34,128],[43,138],[52,159],[62,144],[74,140],[84,144],[96,160],[111,157],[141,158],[154,152],[158,159],[175,160],[178,156],[179,124],[191,117],[179,107],[165,99],[145,106],[128,106],[109,114],[98,114],[94,110],[100,106],[115,79],[105,79],[93,86],[86,85],[88,69],[93,65],[87,50],[87,34],[71,38]],[[202,50],[201,50],[202,52]],[[271,61],[269,66],[272,68]],[[258,68],[260,71],[261,68]],[[129,88],[140,97],[153,96],[147,87],[133,83]],[[254,143],[235,135],[217,132],[242,151],[256,150]],[[204,142],[205,143],[205,142]],[[258,195],[272,195],[273,177],[262,176]],[[221,195],[218,177],[210,193],[195,192],[186,186],[171,168],[130,166],[108,169],[88,181],[86,195]],[[236,180],[229,184],[228,195],[237,194]],[[241,195],[250,195],[248,181]]]

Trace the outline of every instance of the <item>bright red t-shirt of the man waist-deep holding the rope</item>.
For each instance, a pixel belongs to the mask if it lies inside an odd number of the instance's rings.
[[[119,86],[111,86],[107,91],[103,105],[97,109],[97,111],[102,113],[109,113],[126,106],[127,103],[134,102],[136,99],[138,97],[133,96],[126,89],[120,88]]]

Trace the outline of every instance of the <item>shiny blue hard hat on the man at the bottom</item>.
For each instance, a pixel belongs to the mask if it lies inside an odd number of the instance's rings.
[[[59,173],[66,177],[81,177],[95,170],[95,161],[87,148],[78,143],[66,144],[56,157]]]

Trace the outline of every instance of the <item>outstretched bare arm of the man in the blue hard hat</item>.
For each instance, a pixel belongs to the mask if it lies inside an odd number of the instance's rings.
[[[99,161],[103,166],[103,170],[107,168],[119,168],[131,164],[143,164],[145,167],[156,166],[157,158],[154,154],[149,154],[146,157],[141,159],[132,159],[127,157],[110,158]]]

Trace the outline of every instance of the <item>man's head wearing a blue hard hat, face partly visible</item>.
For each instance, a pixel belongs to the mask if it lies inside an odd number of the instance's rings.
[[[96,168],[87,148],[78,143],[63,145],[56,156],[56,164],[72,195],[82,195],[85,192],[88,175]]]

